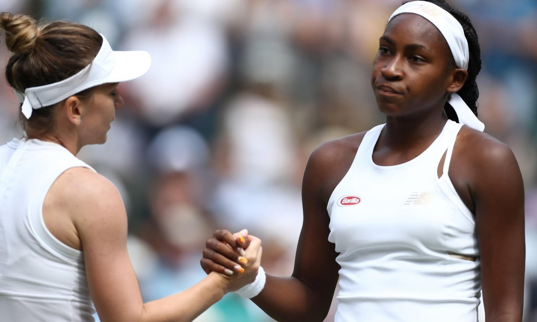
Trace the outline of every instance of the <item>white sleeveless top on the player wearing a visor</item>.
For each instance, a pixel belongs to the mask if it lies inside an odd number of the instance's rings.
[[[93,321],[83,255],[43,222],[45,195],[71,167],[58,144],[14,139],[0,147],[0,320]],[[95,170],[94,170],[95,171]]]

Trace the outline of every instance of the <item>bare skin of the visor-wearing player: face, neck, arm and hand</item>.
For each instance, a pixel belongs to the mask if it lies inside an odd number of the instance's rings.
[[[124,104],[116,87],[100,85],[88,100],[72,96],[51,107],[54,130],[37,138],[59,143],[73,155],[84,145],[104,143],[115,110]],[[262,254],[261,241],[244,231],[248,250],[237,251],[248,263],[241,267],[237,257],[235,273],[213,272],[183,292],[143,303],[127,252],[126,210],[112,182],[84,167],[65,171],[45,197],[43,220],[60,242],[83,251],[91,297],[103,322],[191,321],[227,292],[253,282]]]

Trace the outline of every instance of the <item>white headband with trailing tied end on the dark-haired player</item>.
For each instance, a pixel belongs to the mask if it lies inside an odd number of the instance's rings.
[[[429,20],[447,41],[449,49],[455,60],[455,64],[459,68],[468,69],[470,54],[468,51],[468,40],[461,24],[449,12],[440,8],[438,5],[426,1],[411,1],[403,4],[394,13],[391,14],[388,22],[401,13],[415,13]],[[471,128],[483,131],[485,125],[477,119],[475,114],[466,105],[465,101],[459,94],[451,94],[449,105],[453,107],[459,123],[467,125]]]

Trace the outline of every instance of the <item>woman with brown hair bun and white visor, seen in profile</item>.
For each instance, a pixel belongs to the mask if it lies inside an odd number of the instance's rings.
[[[76,155],[105,143],[124,104],[116,87],[145,74],[149,54],[115,52],[92,28],[65,21],[1,13],[0,27],[26,134],[0,147],[1,321],[86,322],[95,310],[103,322],[191,321],[255,280],[261,251],[251,237],[235,272],[143,303],[124,204]]]

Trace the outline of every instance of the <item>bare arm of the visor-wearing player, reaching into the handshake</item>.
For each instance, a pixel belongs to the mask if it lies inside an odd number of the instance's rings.
[[[75,175],[62,174],[57,184],[68,196],[66,207],[82,244],[88,285],[103,322],[191,321],[228,291],[255,279],[260,240],[251,237],[243,274],[212,273],[183,292],[144,304],[127,252],[127,215],[117,189],[88,169],[68,172]]]

